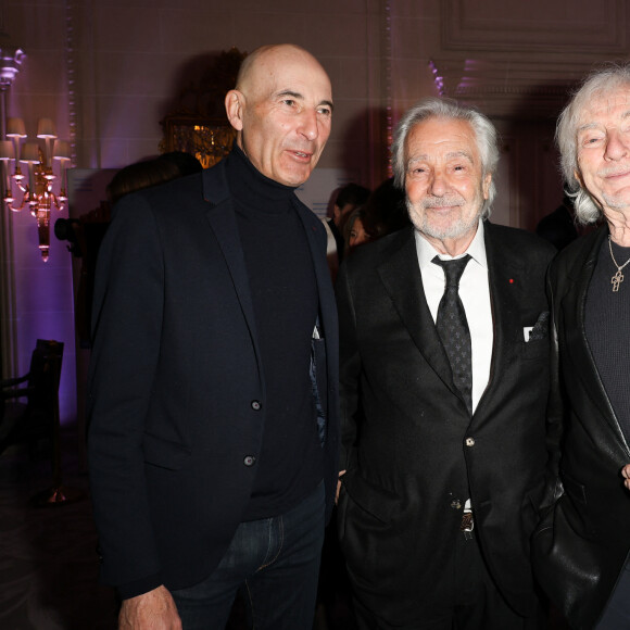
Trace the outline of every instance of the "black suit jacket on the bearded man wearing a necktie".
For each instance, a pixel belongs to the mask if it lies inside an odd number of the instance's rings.
[[[364,245],[337,282],[343,477],[341,545],[356,592],[413,627],[439,588],[471,496],[488,567],[531,612],[529,537],[546,462],[547,312],[553,248],[486,223],[494,324],[490,382],[472,417],[427,305],[412,228]]]

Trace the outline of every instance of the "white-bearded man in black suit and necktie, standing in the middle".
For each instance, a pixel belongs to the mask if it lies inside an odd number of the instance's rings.
[[[413,226],[360,248],[337,282],[339,528],[358,625],[541,628],[529,537],[554,250],[486,220],[499,160],[486,116],[423,101],[392,151]]]

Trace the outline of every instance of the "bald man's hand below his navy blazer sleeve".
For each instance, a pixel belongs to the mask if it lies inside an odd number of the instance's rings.
[[[166,587],[124,600],[118,630],[181,630],[177,607]]]

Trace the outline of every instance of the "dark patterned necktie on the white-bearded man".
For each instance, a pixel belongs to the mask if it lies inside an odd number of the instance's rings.
[[[438,307],[436,327],[451,362],[453,382],[464,395],[468,411],[472,413],[472,351],[470,330],[466,320],[464,304],[459,300],[459,278],[470,256],[455,261],[442,261],[436,256],[431,262],[440,265],[446,276],[446,288]]]

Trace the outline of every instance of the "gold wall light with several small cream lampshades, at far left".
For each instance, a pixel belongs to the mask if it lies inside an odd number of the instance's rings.
[[[54,207],[61,212],[67,201],[66,166],[71,160],[70,144],[56,139],[54,124],[50,118],[40,118],[37,126],[37,137],[43,139],[46,143],[45,151],[36,141],[26,141],[22,146],[22,140],[26,137],[22,118],[7,121],[7,138],[11,140],[0,140],[0,161],[7,165],[3,167],[4,206],[13,212],[20,212],[28,206],[37,220],[39,251],[46,262],[50,250],[51,211]],[[12,160],[14,167],[11,174]],[[53,173],[53,161],[60,162],[59,178]],[[21,163],[27,164],[27,175],[22,173]],[[61,184],[59,192],[54,192],[58,179]],[[17,196],[13,194],[14,189]]]

